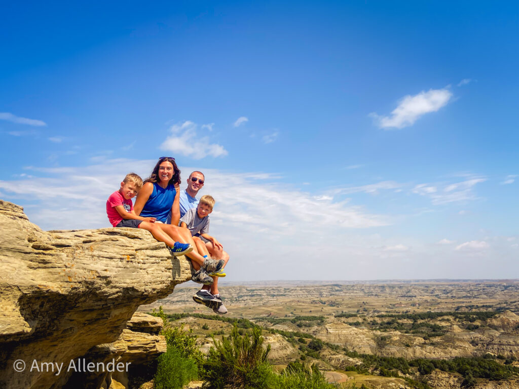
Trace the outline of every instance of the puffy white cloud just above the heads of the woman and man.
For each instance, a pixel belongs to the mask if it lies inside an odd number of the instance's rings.
[[[197,134],[198,126],[192,121],[174,124],[168,136],[160,145],[161,150],[171,151],[193,159],[202,159],[207,156],[222,157],[228,154],[227,150],[216,143],[211,143],[208,136]]]

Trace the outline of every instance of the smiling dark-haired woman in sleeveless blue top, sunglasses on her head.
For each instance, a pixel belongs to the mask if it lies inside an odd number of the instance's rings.
[[[223,261],[204,258],[198,254],[189,230],[178,226],[180,220],[179,185],[180,170],[175,159],[160,157],[152,174],[144,180],[133,209],[136,215],[157,218],[157,225],[171,239],[190,244],[194,250],[186,255],[193,260],[193,267],[197,270],[193,281],[210,285],[213,283],[213,279],[207,272],[221,271],[223,263],[220,262]],[[166,224],[170,212],[171,224]],[[206,271],[198,271],[200,268]]]

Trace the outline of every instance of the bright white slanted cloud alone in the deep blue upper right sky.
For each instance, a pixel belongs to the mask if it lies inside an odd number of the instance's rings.
[[[407,95],[400,100],[397,108],[390,116],[379,116],[370,114],[377,121],[380,128],[403,128],[412,126],[422,115],[436,112],[447,105],[453,94],[448,89],[430,89],[428,92],[421,91],[414,96]]]

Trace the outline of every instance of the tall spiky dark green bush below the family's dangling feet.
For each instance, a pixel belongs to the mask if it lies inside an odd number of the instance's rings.
[[[204,365],[204,387],[208,389],[271,387],[275,375],[267,362],[270,345],[263,350],[261,328],[255,327],[252,336],[240,336],[235,325],[230,336],[215,341]]]

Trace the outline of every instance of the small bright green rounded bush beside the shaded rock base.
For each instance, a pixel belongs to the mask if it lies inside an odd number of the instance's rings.
[[[169,347],[157,359],[155,389],[181,389],[198,377],[198,368],[192,359],[182,356],[181,352]]]

